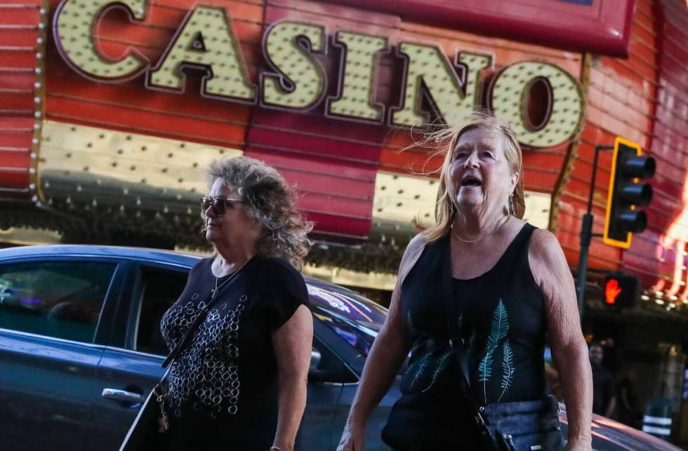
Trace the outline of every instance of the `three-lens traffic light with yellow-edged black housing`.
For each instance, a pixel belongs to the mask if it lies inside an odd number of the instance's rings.
[[[604,221],[604,243],[629,248],[630,238],[647,227],[647,215],[638,207],[652,201],[652,187],[638,179],[654,175],[651,156],[641,156],[640,145],[617,137],[611,159],[607,219]]]

